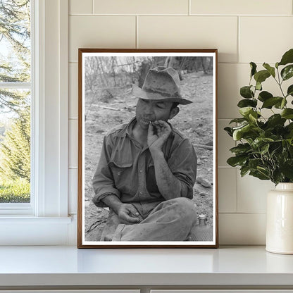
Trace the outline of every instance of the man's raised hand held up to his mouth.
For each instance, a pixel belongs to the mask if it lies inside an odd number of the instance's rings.
[[[154,130],[156,129],[156,134]],[[156,120],[149,124],[149,131],[147,135],[147,144],[149,151],[162,151],[163,144],[168,139],[171,133],[171,127],[166,121]]]

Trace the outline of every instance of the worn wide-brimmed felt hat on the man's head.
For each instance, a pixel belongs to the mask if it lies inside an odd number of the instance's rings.
[[[192,103],[180,96],[180,78],[172,67],[151,68],[142,88],[132,85],[132,94],[141,99],[172,101],[182,105]]]

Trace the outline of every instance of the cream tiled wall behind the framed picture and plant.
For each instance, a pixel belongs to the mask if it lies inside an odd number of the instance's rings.
[[[241,178],[227,166],[235,143],[223,127],[237,116],[248,63],[275,63],[293,47],[292,0],[69,2],[70,213],[77,212],[77,49],[218,48],[220,244],[265,244],[266,192],[273,184]]]

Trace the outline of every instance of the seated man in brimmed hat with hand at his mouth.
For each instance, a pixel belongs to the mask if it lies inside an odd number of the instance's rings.
[[[184,241],[197,222],[197,155],[168,120],[192,101],[170,67],[149,70],[132,93],[136,116],[104,137],[93,178],[94,204],[110,208],[101,241]]]

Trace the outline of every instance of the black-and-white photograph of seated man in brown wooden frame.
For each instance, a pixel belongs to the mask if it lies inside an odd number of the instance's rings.
[[[217,49],[79,49],[78,248],[218,247]]]

